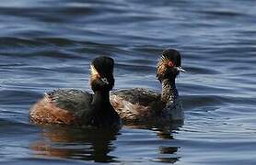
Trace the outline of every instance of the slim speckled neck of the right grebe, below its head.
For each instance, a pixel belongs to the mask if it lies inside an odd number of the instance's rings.
[[[175,85],[175,78],[172,79],[164,79],[161,81],[162,83],[162,93],[161,93],[161,101],[164,103],[169,103],[172,99],[179,96],[178,90]]]

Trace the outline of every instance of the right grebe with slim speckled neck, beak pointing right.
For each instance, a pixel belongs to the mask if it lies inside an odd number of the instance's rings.
[[[162,84],[162,93],[144,88],[111,92],[111,104],[124,123],[183,121],[179,93],[175,79],[181,67],[179,51],[166,49],[157,63],[157,79]]]

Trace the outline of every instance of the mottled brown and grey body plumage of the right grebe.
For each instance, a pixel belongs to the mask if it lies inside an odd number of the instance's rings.
[[[159,115],[161,95],[142,88],[119,90],[111,93],[111,103],[123,121],[134,122]],[[151,111],[149,108],[156,107]]]

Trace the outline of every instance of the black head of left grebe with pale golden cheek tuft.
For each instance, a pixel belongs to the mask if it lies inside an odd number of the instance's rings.
[[[111,91],[114,86],[114,60],[100,56],[91,62],[91,88],[95,91]]]

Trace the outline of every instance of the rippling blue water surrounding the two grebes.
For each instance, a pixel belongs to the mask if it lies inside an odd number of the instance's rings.
[[[0,163],[256,164],[253,0],[1,0]],[[179,49],[183,126],[118,132],[40,127],[29,107],[55,88],[89,90],[88,64],[116,61],[115,89],[159,91]]]

